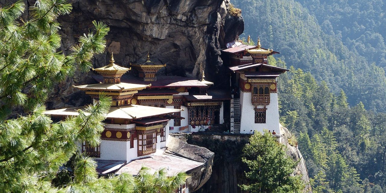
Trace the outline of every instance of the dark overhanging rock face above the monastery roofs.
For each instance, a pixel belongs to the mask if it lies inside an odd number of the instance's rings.
[[[26,0],[27,1],[27,0]],[[34,0],[28,0],[33,5]],[[217,85],[226,82],[220,51],[244,30],[242,17],[227,14],[228,0],[69,0],[71,14],[60,17],[62,49],[88,32],[93,20],[102,20],[110,27],[105,54],[95,56],[94,68],[109,60],[114,53],[116,63],[129,66],[146,59],[166,63],[159,73],[201,77]],[[90,98],[72,85],[94,83],[90,76],[77,73],[52,91],[48,108],[73,107],[89,103]],[[58,97],[60,96],[60,97]]]

